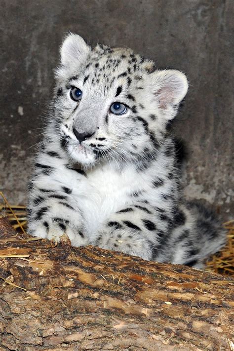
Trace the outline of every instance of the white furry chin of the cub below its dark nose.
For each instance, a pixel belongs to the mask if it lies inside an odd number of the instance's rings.
[[[67,145],[67,152],[69,157],[77,163],[80,163],[85,168],[95,165],[96,156],[94,152],[82,145]]]

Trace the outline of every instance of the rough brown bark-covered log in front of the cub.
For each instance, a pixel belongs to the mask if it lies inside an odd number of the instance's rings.
[[[234,280],[17,234],[0,220],[0,350],[234,350]]]

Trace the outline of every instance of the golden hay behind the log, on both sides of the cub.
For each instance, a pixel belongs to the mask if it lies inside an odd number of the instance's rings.
[[[27,212],[26,207],[10,205],[4,195],[0,192],[3,203],[0,205],[0,215],[6,216],[12,224],[12,227],[25,233],[27,230]],[[228,242],[226,246],[218,253],[207,260],[205,270],[213,273],[227,274],[234,276],[234,220],[223,224],[228,232]],[[32,240],[39,238],[32,238]]]

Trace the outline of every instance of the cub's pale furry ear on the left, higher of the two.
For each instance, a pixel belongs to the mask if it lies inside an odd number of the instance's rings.
[[[90,49],[90,46],[78,34],[69,34],[60,49],[62,65],[65,67],[77,66],[78,63],[85,60]]]

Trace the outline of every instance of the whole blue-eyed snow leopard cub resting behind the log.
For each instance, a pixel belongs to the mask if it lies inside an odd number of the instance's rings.
[[[225,233],[181,199],[167,125],[187,89],[182,72],[70,34],[29,184],[29,233],[202,267]]]

